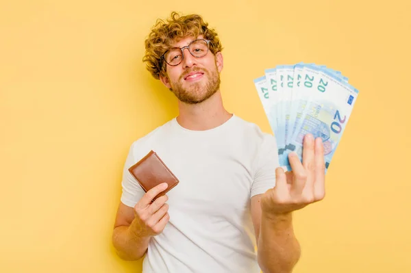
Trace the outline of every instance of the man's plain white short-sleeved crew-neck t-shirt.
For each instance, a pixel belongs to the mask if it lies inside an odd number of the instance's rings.
[[[130,147],[121,196],[129,207],[145,192],[127,169],[150,150],[179,184],[167,193],[170,220],[151,238],[143,272],[260,273],[250,200],[275,185],[274,136],[236,115],[206,131],[173,118]]]

